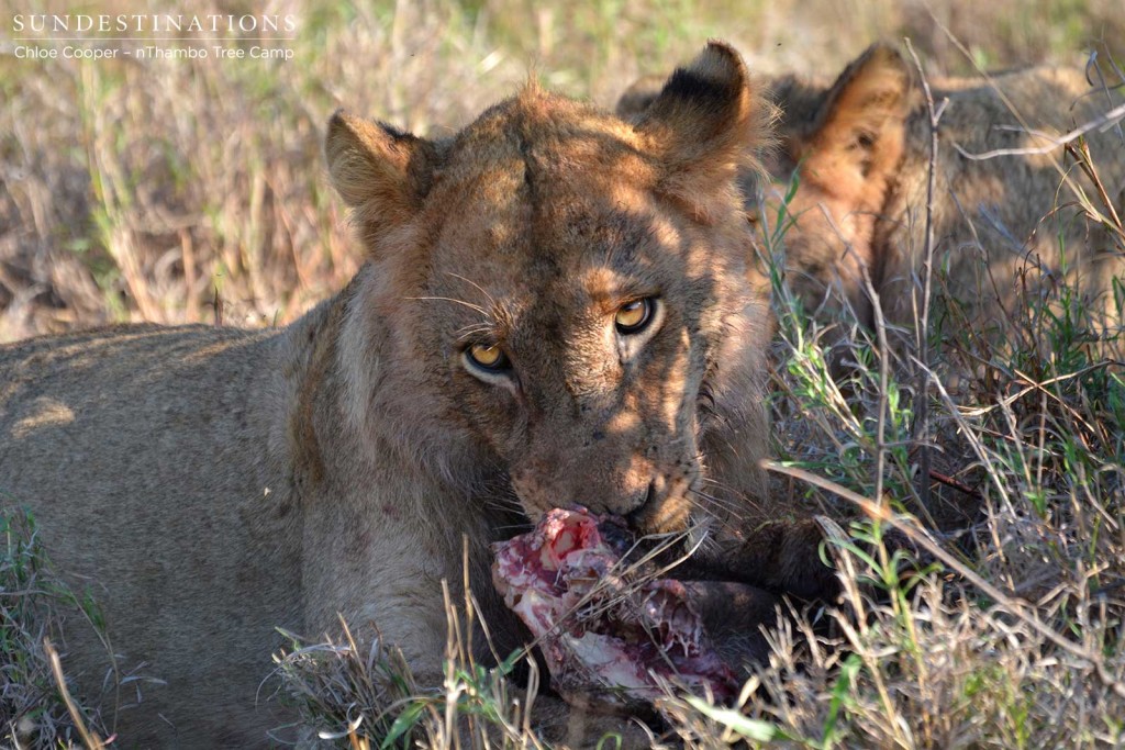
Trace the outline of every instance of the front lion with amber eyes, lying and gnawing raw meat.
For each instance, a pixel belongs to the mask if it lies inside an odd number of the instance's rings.
[[[736,179],[765,111],[718,42],[633,123],[534,83],[436,141],[340,111],[325,154],[366,263],[335,297],[277,329],[0,347],[0,490],[96,588],[134,678],[102,699],[123,741],[264,744],[291,720],[260,698],[277,629],[338,615],[440,686],[466,548],[511,653],[488,546],[562,504],[764,587],[830,586],[809,524],[759,523],[784,509]],[[66,645],[98,696],[105,649]]]

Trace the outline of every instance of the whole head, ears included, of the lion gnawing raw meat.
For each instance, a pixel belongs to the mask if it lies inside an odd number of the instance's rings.
[[[754,100],[734,53],[701,60],[647,127],[529,88],[447,142],[382,129],[392,156],[414,150],[404,173],[424,195],[392,226],[350,200],[374,244],[400,246],[376,251],[389,280],[375,305],[402,322],[400,351],[434,395],[417,418],[438,409],[484,446],[531,518],[577,503],[683,528],[717,392],[760,367],[732,190]],[[345,127],[349,143],[377,137]]]

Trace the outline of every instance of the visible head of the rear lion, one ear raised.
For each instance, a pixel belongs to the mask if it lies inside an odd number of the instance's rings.
[[[780,147],[766,160],[772,183],[748,216],[780,222],[790,284],[810,311],[843,299],[874,325],[864,275],[879,284],[885,259],[876,227],[902,160],[912,94],[904,61],[883,44],[830,87],[793,75],[773,81]]]

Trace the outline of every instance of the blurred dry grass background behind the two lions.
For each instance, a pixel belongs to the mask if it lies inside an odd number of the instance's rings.
[[[177,6],[294,13],[291,62],[28,61],[4,40],[15,12],[142,6],[0,3],[0,342],[119,320],[213,322],[216,298],[224,322],[286,323],[340,288],[359,259],[321,155],[338,107],[441,133],[531,69],[612,106],[638,74],[710,36],[736,43],[755,71],[829,74],[903,35],[935,72],[1077,61],[1125,38],[1116,0],[404,0]]]

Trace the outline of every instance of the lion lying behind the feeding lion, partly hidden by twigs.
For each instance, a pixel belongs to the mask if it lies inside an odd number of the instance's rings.
[[[767,232],[781,225],[791,288],[807,310],[830,320],[850,308],[868,327],[874,290],[889,323],[912,325],[921,309],[930,124],[911,69],[893,47],[875,44],[835,82],[781,75],[770,90],[781,118],[764,210],[754,175],[744,188],[750,219],[773,224]],[[644,111],[654,91],[641,79],[619,114]],[[1020,336],[1027,308],[1038,310],[1065,282],[1091,314],[1094,335],[1118,327],[1125,233],[1113,229],[1113,210],[1125,206],[1125,143],[1118,129],[1086,134],[1110,210],[1058,141],[1119,106],[1119,96],[1077,69],[1040,65],[935,79],[933,99],[947,100],[933,200],[939,323],[950,316],[947,329],[993,342]]]

